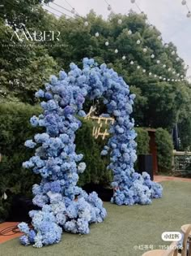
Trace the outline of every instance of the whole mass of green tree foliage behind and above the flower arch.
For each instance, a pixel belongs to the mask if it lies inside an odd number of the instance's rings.
[[[66,19],[64,15],[56,19],[41,7],[40,1],[27,2],[19,0],[15,4],[9,0],[4,13],[0,15],[1,100],[34,104],[34,92],[43,86],[51,74],[67,69],[71,62],[81,63],[84,57],[88,57],[96,59],[98,63],[107,63],[108,67],[123,76],[131,91],[136,93],[136,125],[162,127],[171,131],[174,124],[184,121],[182,125],[185,125],[186,120],[190,120],[191,86],[186,80],[172,82],[176,76],[185,77],[183,59],[176,54],[176,46],[172,42],[168,43],[168,48],[163,45],[159,40],[159,30],[155,27],[151,29],[146,23],[146,15],[133,11],[129,15],[112,13],[108,20],[104,20],[91,11],[84,19],[79,16]],[[14,5],[19,6],[20,14]],[[85,20],[87,26],[84,26]],[[121,24],[118,20],[121,20]],[[18,33],[22,33],[21,24],[30,31],[57,30],[60,33],[59,41],[25,40],[19,42],[20,47],[17,42],[15,47],[9,46],[13,31],[17,29]],[[99,37],[96,37],[96,33],[99,33]],[[108,46],[105,45],[106,41]],[[115,49],[118,50],[117,54]],[[151,54],[155,54],[155,58],[152,59]],[[124,55],[125,59],[122,59]],[[160,63],[156,63],[158,59]],[[141,68],[138,69],[138,66]],[[157,77],[149,76],[149,72]],[[159,80],[159,76],[165,80]],[[100,111],[104,111],[101,101],[96,104],[100,105]]]

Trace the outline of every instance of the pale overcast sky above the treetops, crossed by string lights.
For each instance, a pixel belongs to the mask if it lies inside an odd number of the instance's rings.
[[[109,11],[106,2],[111,5],[114,13],[128,14],[130,9],[140,13],[138,10],[140,7],[149,22],[162,33],[163,41],[166,43],[172,41],[175,44],[177,53],[185,60],[186,65],[189,65],[187,76],[191,76],[191,17],[187,18],[188,10],[181,4],[181,0],[136,0],[138,7],[130,0],[54,0],[54,3],[69,10],[74,7],[79,15],[87,15],[93,9],[98,15],[103,15],[107,19]],[[191,11],[191,0],[187,0],[187,5]],[[64,11],[53,3],[50,7]],[[61,15],[59,12],[53,12]],[[72,15],[70,12],[64,12]]]

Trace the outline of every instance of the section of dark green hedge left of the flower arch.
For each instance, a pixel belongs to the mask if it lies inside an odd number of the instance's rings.
[[[33,154],[23,144],[38,131],[29,124],[34,113],[40,113],[40,107],[12,102],[0,105],[0,221],[6,217],[12,197],[19,193],[30,196],[32,184],[38,181],[32,171],[22,168],[23,161]],[[2,199],[4,192],[6,201]]]

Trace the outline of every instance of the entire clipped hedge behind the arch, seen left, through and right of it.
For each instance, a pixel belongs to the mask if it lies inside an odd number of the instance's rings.
[[[32,128],[29,119],[32,115],[40,114],[39,106],[30,106],[23,103],[2,103],[0,105],[0,220],[4,219],[9,210],[12,197],[23,194],[32,197],[32,184],[39,182],[40,177],[28,169],[23,169],[22,163],[34,154],[24,146],[24,141],[42,132],[43,128]],[[101,157],[100,151],[107,143],[99,137],[92,137],[93,123],[91,120],[81,119],[83,125],[76,134],[76,150],[84,155],[83,161],[87,168],[79,177],[79,186],[93,182],[108,185],[112,181],[112,173],[106,167],[108,157]],[[138,137],[138,154],[149,152],[149,137],[146,130],[136,128]],[[2,199],[6,192],[8,198]]]

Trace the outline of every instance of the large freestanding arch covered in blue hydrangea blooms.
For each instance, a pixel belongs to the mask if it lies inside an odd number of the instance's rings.
[[[70,72],[60,72],[59,78],[50,77],[45,91],[39,90],[37,98],[44,113],[33,116],[31,124],[45,128],[45,132],[36,134],[34,140],[25,142],[29,148],[36,147],[36,154],[23,167],[32,168],[42,177],[40,184],[34,184],[33,203],[41,210],[32,210],[33,229],[26,223],[19,228],[24,235],[23,245],[35,247],[51,245],[60,241],[62,229],[68,232],[87,234],[89,223],[102,222],[106,210],[97,194],[87,194],[76,186],[79,173],[86,164],[80,162],[82,154],[75,153],[75,132],[81,126],[76,115],[85,116],[83,102],[85,98],[104,97],[108,114],[115,117],[110,128],[112,138],[104,146],[102,155],[110,154],[114,180],[112,202],[118,205],[134,203],[149,204],[151,198],[161,197],[162,188],[151,181],[150,176],[142,176],[134,171],[136,143],[134,138],[134,120],[132,113],[134,94],[129,94],[129,86],[117,76],[117,72],[100,67],[93,59],[83,59],[81,70],[74,63]]]

